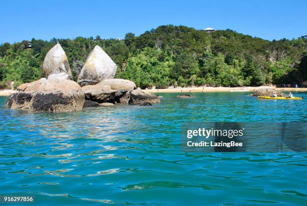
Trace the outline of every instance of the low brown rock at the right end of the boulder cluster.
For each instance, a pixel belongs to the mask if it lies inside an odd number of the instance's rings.
[[[140,89],[135,89],[130,92],[131,105],[143,105],[145,103],[157,104],[160,103],[160,99],[157,95],[151,93],[145,93]]]

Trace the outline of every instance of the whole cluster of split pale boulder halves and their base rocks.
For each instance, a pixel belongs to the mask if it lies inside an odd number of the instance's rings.
[[[116,104],[148,106],[160,102],[134,82],[114,79],[117,66],[99,47],[89,54],[77,82],[73,81],[67,56],[57,43],[47,53],[43,71],[46,78],[21,84],[7,101],[7,107],[30,112],[75,112],[84,107]]]

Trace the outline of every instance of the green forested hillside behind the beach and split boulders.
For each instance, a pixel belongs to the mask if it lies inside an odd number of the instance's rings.
[[[170,85],[247,86],[303,84],[307,80],[307,39],[266,41],[232,30],[206,33],[185,26],[160,26],[124,40],[97,36],[0,46],[0,88],[43,77],[45,55],[58,41],[76,79],[89,52],[99,45],[117,64],[117,78],[145,88]]]

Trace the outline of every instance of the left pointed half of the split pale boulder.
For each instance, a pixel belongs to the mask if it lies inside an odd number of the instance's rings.
[[[67,56],[59,43],[47,53],[43,63],[43,70],[46,77],[49,77],[50,74],[63,72],[72,79]]]

